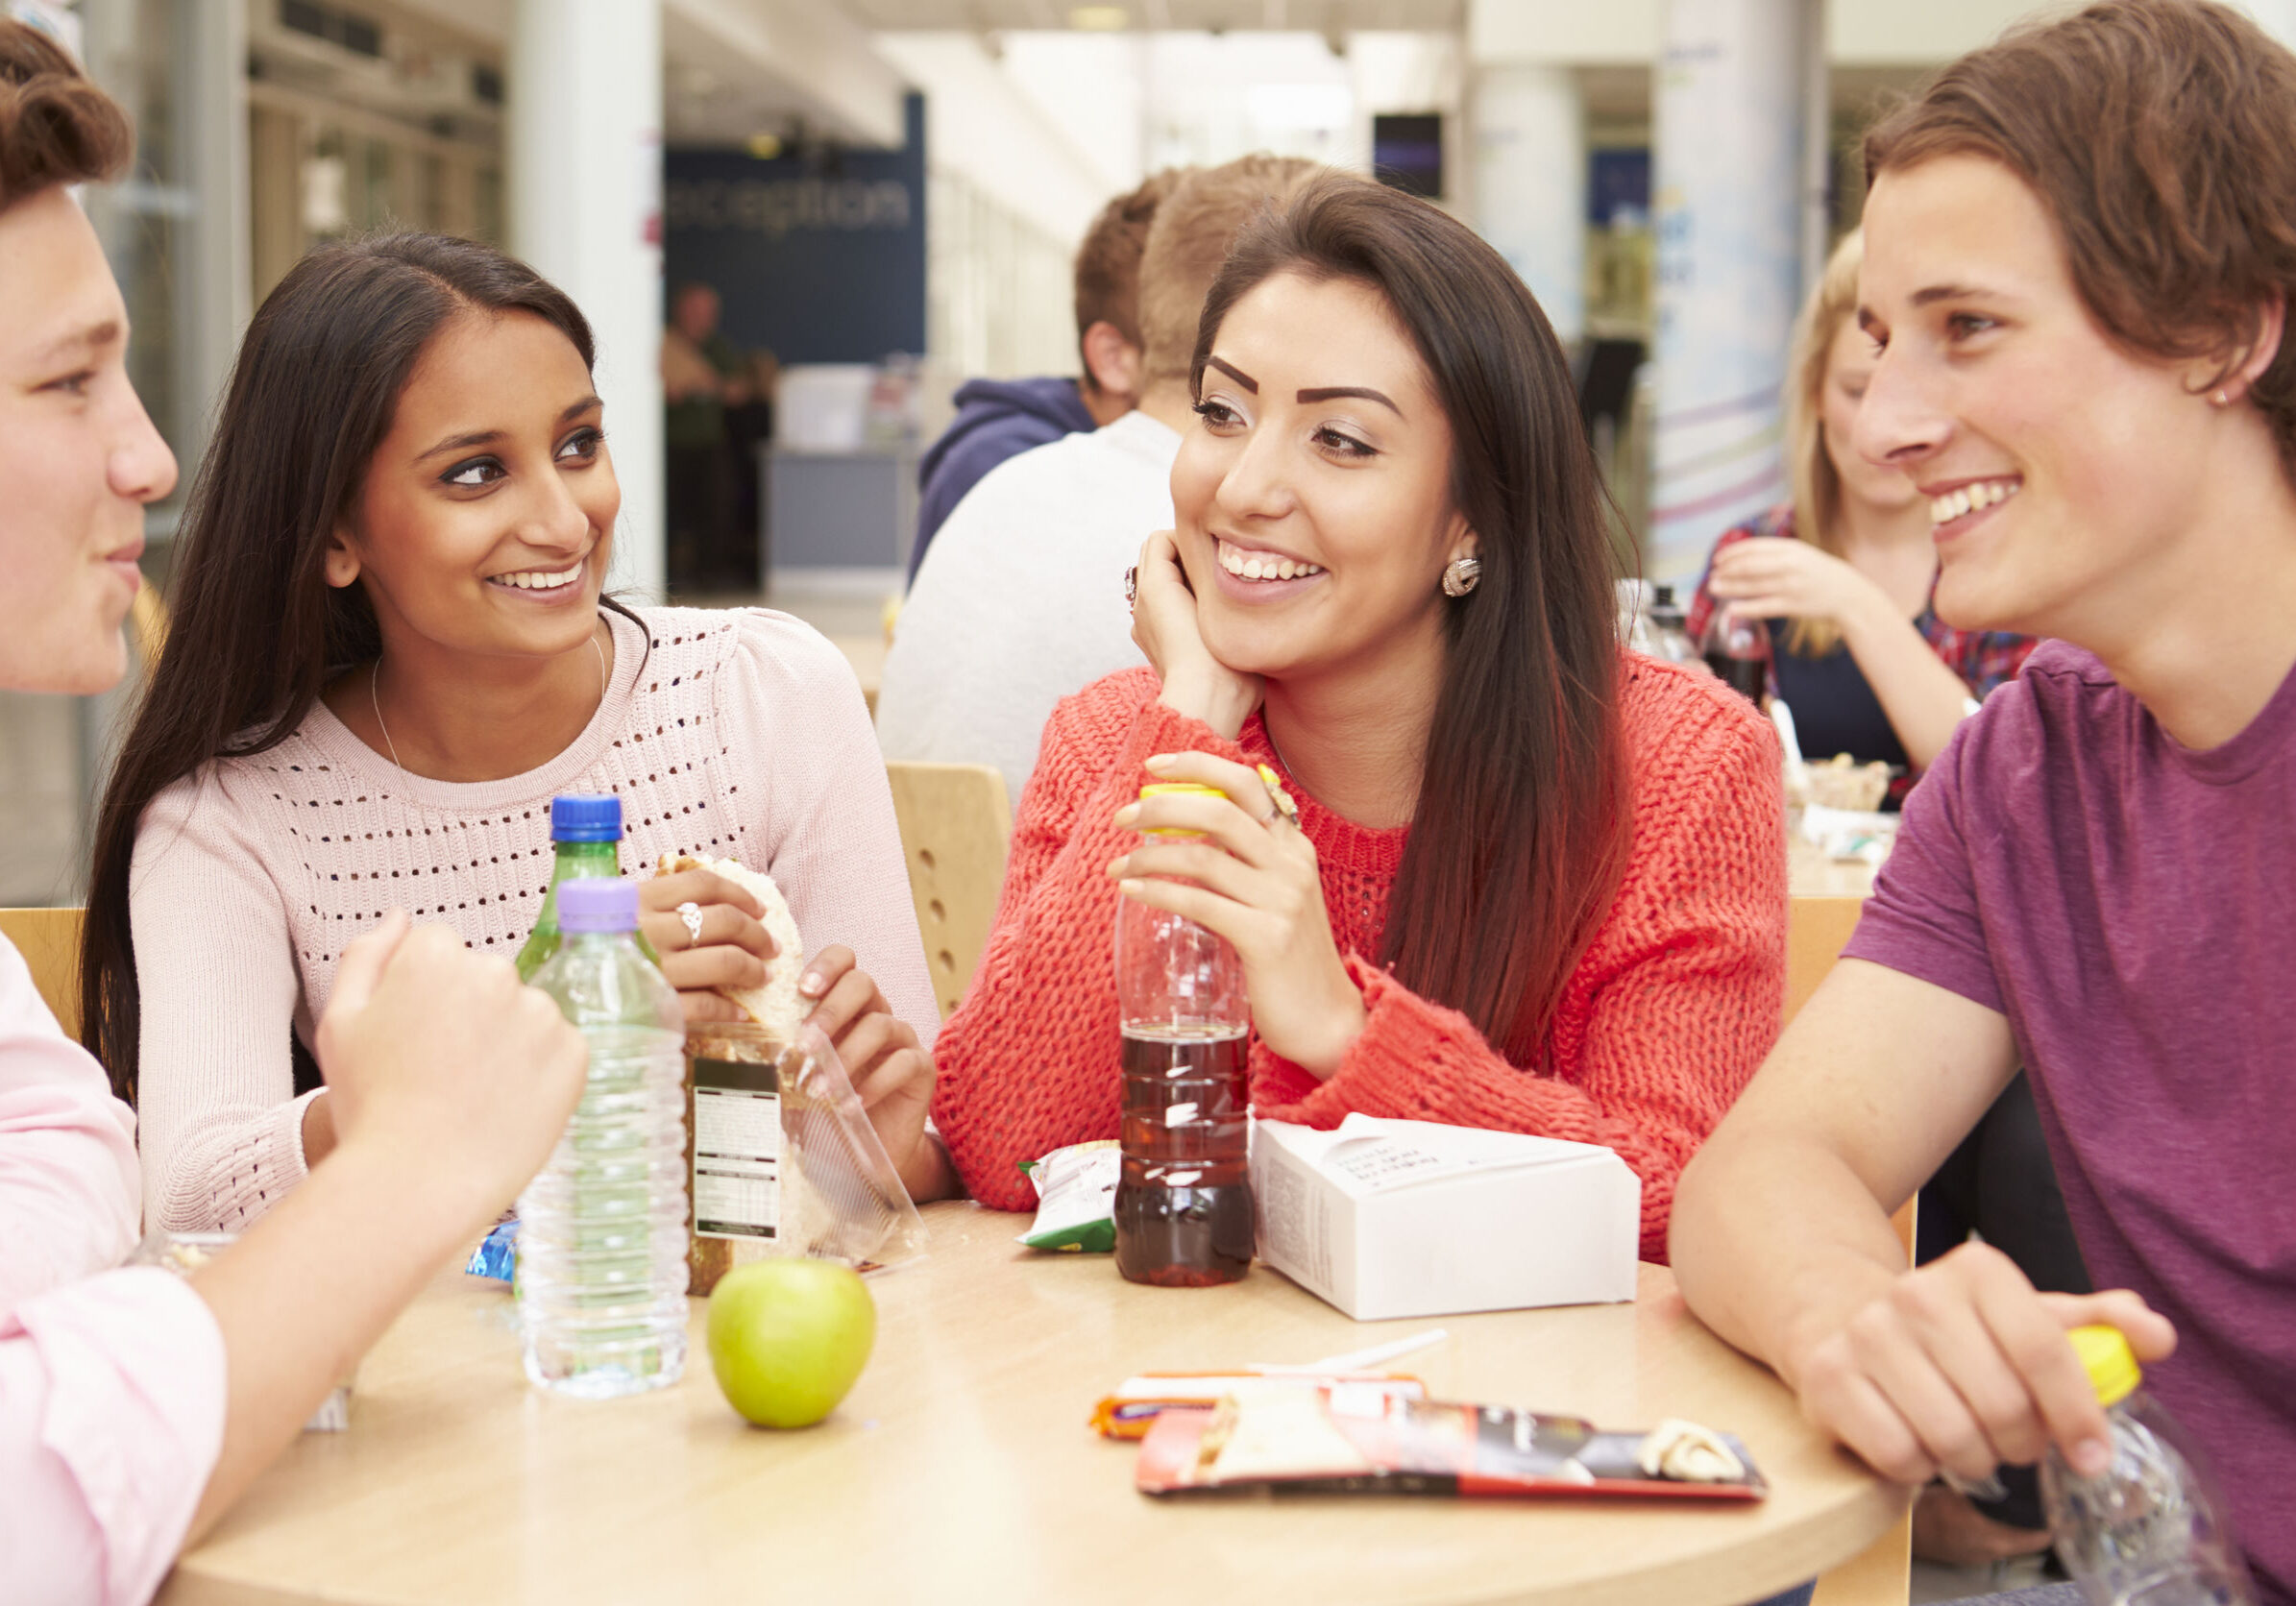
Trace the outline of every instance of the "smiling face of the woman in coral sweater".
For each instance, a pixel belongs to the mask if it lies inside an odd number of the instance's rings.
[[[1279,273],[1212,340],[1171,500],[1203,642],[1274,681],[1442,652],[1451,424],[1384,296]]]

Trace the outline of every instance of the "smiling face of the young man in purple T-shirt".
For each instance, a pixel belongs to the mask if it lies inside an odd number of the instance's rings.
[[[1857,450],[1931,498],[1938,613],[2099,645],[2144,617],[2206,502],[2211,362],[2112,344],[2041,200],[1938,156],[1874,181],[1860,319],[1885,349]]]

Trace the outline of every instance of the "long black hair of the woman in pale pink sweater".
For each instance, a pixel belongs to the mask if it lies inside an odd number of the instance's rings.
[[[138,821],[209,759],[276,748],[328,677],[381,654],[365,587],[326,583],[326,541],[358,509],[416,360],[461,312],[530,312],[574,342],[583,367],[595,360],[565,291],[443,234],[315,250],[248,323],[177,535],[168,647],[96,814],[80,1042],[122,1099],[135,1099],[142,1028],[129,922]]]

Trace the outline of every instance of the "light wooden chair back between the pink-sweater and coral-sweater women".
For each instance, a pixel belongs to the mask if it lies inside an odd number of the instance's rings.
[[[990,764],[886,764],[909,897],[925,938],[932,996],[946,1021],[964,998],[996,920],[1013,808],[1003,771]]]

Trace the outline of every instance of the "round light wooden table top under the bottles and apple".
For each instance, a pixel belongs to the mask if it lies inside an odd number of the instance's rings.
[[[1405,1370],[1435,1395],[1736,1432],[1747,1507],[1132,1491],[1093,1400],[1162,1367],[1302,1363],[1433,1322],[1357,1324],[1270,1271],[1224,1289],[1033,1255],[1022,1216],[925,1211],[932,1253],[875,1278],[877,1351],[820,1427],[746,1427],[700,1351],[675,1386],[528,1388],[512,1301],[441,1280],[367,1356],[347,1434],[305,1434],[170,1576],[161,1606],[654,1601],[1573,1601],[1740,1606],[1876,1539],[1903,1496],[1644,1266],[1632,1305],[1449,1317]]]

